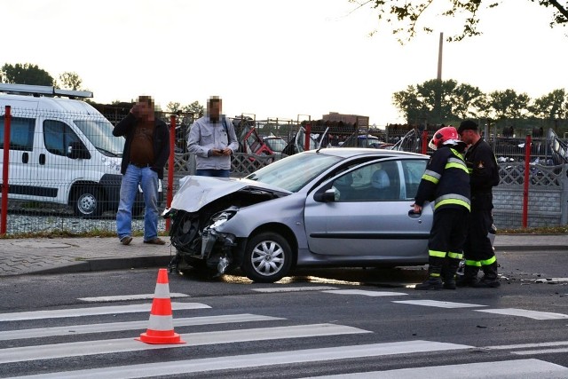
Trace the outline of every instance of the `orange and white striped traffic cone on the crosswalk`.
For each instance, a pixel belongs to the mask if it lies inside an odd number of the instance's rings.
[[[174,332],[171,314],[170,284],[168,284],[168,270],[161,268],[158,271],[154,301],[150,311],[150,320],[146,333],[135,338],[143,343],[185,343]]]

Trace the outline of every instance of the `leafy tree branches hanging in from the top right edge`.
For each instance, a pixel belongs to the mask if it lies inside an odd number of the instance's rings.
[[[484,7],[481,8],[481,0],[349,0],[350,3],[359,4],[358,9],[370,6],[373,10],[378,12],[379,23],[385,21],[392,27],[392,33],[398,36],[399,43],[409,41],[419,31],[419,22],[424,19],[424,14],[428,11],[436,12],[433,9],[434,3],[442,4],[446,2],[444,10],[441,12],[442,16],[452,19],[459,19],[463,23],[463,29],[460,33],[449,36],[446,38],[448,42],[461,41],[465,37],[478,36],[481,32],[477,29],[479,18],[477,13],[483,8],[493,8],[498,6],[496,0],[487,4],[484,2]],[[513,0],[511,0],[513,1]],[[520,1],[520,0],[514,0]],[[568,2],[562,5],[557,0],[525,0],[532,3],[538,3],[540,6],[554,9],[550,27],[556,25],[565,26],[568,24]],[[485,5],[486,4],[486,5]],[[431,33],[433,28],[425,25],[420,28],[425,33]],[[373,31],[371,35],[375,34],[377,30]]]

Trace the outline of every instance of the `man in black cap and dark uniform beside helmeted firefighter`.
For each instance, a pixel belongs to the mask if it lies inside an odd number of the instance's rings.
[[[489,233],[494,231],[492,188],[499,184],[499,166],[491,146],[479,135],[476,122],[461,122],[458,133],[461,140],[469,146],[465,162],[469,169],[471,187],[469,231],[464,245],[465,267],[458,286],[497,288],[501,283],[497,276],[497,259]],[[479,269],[484,272],[481,280],[477,280]]]

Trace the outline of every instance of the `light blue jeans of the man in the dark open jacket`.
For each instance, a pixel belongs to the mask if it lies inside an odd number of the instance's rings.
[[[121,200],[116,212],[118,238],[132,235],[132,207],[138,193],[138,185],[144,195],[144,241],[158,236],[158,173],[149,167],[139,168],[129,164],[122,176]]]

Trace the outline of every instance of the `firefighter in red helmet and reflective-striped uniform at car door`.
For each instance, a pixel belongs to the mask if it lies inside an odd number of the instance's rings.
[[[428,241],[428,280],[416,289],[455,289],[455,273],[463,257],[468,231],[469,173],[463,160],[466,145],[457,130],[446,126],[430,140],[435,150],[414,198],[414,213],[434,201],[434,220]]]

